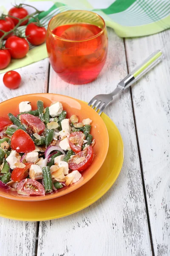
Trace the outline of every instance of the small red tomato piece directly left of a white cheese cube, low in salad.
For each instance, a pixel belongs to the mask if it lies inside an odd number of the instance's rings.
[[[26,167],[18,168],[16,167],[11,174],[11,179],[15,182],[20,182],[21,180],[28,177],[28,169],[30,169],[32,163],[25,163]]]

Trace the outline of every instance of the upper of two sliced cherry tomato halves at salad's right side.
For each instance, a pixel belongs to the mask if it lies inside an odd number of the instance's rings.
[[[85,134],[83,134],[81,131],[75,131],[70,134],[69,145],[75,153],[79,153],[82,150],[84,139]]]

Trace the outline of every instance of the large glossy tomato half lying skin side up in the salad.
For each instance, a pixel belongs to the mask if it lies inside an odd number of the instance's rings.
[[[31,137],[23,130],[19,129],[11,137],[11,148],[18,153],[28,153],[35,149]]]

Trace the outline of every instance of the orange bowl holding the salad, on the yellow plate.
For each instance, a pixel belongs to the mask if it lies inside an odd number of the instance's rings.
[[[22,101],[31,102],[32,109],[37,109],[37,100],[42,100],[44,102],[44,107],[48,107],[51,103],[59,101],[63,105],[63,109],[67,111],[67,118],[75,114],[79,116],[79,121],[83,119],[90,118],[92,122],[91,134],[95,139],[94,144],[94,160],[91,165],[84,172],[81,172],[82,177],[76,183],[59,189],[59,191],[47,194],[45,196],[23,196],[18,195],[17,192],[11,190],[5,190],[0,188],[0,196],[20,200],[20,201],[42,201],[52,198],[57,198],[59,196],[65,195],[69,192],[78,189],[84,185],[88,180],[90,180],[96,172],[102,166],[106,155],[108,153],[108,131],[103,122],[102,118],[96,113],[91,107],[89,107],[85,102],[82,102],[78,99],[74,99],[68,96],[63,96],[59,94],[52,93],[36,93],[36,94],[27,94],[13,99],[8,99],[0,103],[0,116],[8,117],[8,113],[13,113],[17,115],[19,113],[19,103]]]

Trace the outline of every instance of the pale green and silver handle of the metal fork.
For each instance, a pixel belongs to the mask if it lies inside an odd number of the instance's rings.
[[[132,72],[130,72],[122,81],[117,85],[122,89],[127,89],[130,85],[138,81],[144,74],[155,67],[162,59],[164,54],[161,50],[153,52],[141,65],[136,67]]]

